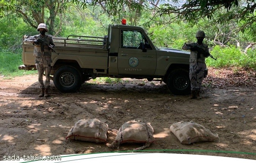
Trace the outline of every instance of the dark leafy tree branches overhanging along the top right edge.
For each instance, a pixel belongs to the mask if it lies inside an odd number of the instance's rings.
[[[65,0],[70,2],[71,0]],[[167,0],[168,3],[159,4],[159,0],[72,0],[80,4],[82,8],[87,5],[101,6],[102,11],[112,16],[120,16],[124,12],[124,6],[129,10],[141,13],[143,10],[152,11],[152,19],[157,16],[174,16],[166,23],[185,20],[190,24],[195,24],[199,19],[215,19],[217,23],[236,20],[240,24],[237,31],[244,31],[256,20],[253,15],[256,8],[255,0]],[[218,13],[216,15],[216,13]],[[137,18],[135,16],[135,18]]]

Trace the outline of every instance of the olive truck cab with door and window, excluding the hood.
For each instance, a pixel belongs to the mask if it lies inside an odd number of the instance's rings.
[[[152,76],[157,65],[156,49],[140,27],[110,26],[108,73],[135,77]]]

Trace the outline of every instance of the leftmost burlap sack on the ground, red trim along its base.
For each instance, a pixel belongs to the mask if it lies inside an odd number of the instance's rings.
[[[80,119],[66,139],[103,143],[107,141],[108,125],[99,119]]]

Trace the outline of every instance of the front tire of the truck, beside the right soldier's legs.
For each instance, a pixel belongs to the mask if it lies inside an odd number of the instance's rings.
[[[191,85],[189,72],[185,69],[176,69],[170,72],[167,78],[167,87],[175,95],[190,94]]]

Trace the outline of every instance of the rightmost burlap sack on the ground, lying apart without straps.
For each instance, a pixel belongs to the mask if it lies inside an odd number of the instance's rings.
[[[182,144],[191,144],[200,141],[214,141],[218,134],[213,134],[208,129],[193,121],[177,122],[170,127],[170,131],[181,141]]]

